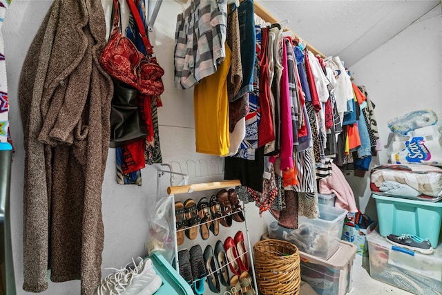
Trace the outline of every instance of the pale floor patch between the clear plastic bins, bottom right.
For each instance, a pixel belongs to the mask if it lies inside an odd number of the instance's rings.
[[[364,294],[364,295],[410,295],[412,293],[403,289],[399,289],[392,285],[375,280],[369,273],[368,257],[356,255],[353,261],[352,270],[352,290],[347,293],[350,295]]]

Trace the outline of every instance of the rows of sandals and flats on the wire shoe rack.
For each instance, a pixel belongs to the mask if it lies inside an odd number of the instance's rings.
[[[244,222],[245,218],[235,189],[222,189],[210,199],[200,198],[198,203],[190,198],[184,203],[175,202],[175,219],[177,246],[180,246],[185,238],[197,238],[198,227],[202,240],[207,240],[210,232],[218,236],[220,224],[231,227],[233,221]],[[205,281],[213,293],[219,294],[224,285],[227,287],[224,294],[229,294],[229,290],[233,292],[231,294],[255,294],[242,231],[238,231],[234,238],[228,237],[224,243],[218,240],[215,247],[206,245],[204,252],[200,245],[194,245],[190,251],[180,249],[177,259],[180,275],[195,294],[204,294]]]

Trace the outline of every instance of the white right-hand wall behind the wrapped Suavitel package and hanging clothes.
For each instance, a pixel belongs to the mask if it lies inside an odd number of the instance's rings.
[[[441,4],[356,62],[350,70],[354,83],[365,85],[376,104],[375,114],[383,145],[387,122],[411,111],[430,108],[442,120],[442,15]],[[373,164],[386,164],[386,149]],[[373,165],[372,164],[372,165]],[[361,211],[376,217],[366,178],[347,176]],[[365,210],[366,208],[366,210]]]

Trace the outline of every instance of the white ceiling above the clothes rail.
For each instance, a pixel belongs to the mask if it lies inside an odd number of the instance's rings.
[[[279,21],[287,19],[287,28],[320,53],[339,56],[352,66],[441,0],[256,2]]]

